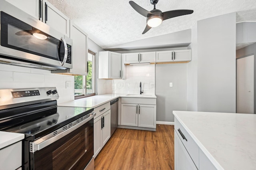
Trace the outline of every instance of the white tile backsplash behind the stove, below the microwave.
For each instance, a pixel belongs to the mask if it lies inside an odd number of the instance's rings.
[[[74,76],[52,74],[51,71],[0,64],[0,89],[56,87],[58,103],[74,100]],[[70,87],[66,89],[66,81]]]

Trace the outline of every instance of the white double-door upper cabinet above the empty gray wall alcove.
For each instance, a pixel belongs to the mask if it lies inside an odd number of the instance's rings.
[[[191,61],[191,49],[156,51],[156,63]]]

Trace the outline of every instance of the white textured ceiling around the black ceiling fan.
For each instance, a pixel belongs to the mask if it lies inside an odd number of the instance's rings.
[[[49,0],[56,8],[80,26],[89,38],[102,48],[160,36],[192,28],[198,20],[241,11],[238,21],[255,20],[256,0],[159,0],[162,12],[178,9],[194,10],[193,14],[171,18],[146,34],[146,18],[138,14],[129,0]],[[134,0],[150,11],[150,0]],[[246,10],[246,12],[243,12]]]

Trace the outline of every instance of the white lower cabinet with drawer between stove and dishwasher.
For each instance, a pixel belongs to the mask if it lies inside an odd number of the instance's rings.
[[[94,109],[94,158],[110,138],[110,103]]]

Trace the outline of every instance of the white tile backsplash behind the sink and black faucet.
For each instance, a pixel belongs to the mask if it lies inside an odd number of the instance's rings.
[[[99,92],[140,94],[140,82],[143,94],[155,94],[155,65],[127,65],[126,79],[100,80]],[[103,88],[103,90],[101,90]]]

